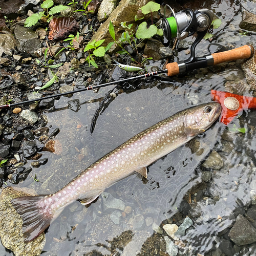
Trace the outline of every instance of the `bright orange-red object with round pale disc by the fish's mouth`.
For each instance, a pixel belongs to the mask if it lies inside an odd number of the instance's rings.
[[[211,98],[222,106],[221,122],[230,123],[243,110],[256,109],[256,98],[211,90]]]

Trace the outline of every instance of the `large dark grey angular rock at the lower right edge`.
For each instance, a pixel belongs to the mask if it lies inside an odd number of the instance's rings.
[[[228,236],[239,246],[251,244],[256,241],[256,229],[242,215],[239,215]]]

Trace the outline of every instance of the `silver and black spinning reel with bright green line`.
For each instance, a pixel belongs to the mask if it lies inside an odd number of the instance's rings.
[[[183,61],[184,63],[193,62],[195,60],[195,48],[207,33],[214,14],[208,9],[200,9],[194,12],[188,8],[175,13],[169,5],[165,5],[165,8],[166,6],[172,12],[172,16],[168,18],[164,17],[161,26],[164,36],[168,40],[172,38],[177,38],[178,40],[184,39],[197,32],[197,38],[190,49],[190,57]]]

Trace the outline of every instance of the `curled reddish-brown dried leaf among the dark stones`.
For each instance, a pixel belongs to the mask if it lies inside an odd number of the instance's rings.
[[[49,24],[50,32],[48,38],[65,39],[70,34],[76,35],[78,23],[73,17],[53,18]]]

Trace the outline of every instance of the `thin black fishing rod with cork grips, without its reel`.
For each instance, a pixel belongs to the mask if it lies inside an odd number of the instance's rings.
[[[118,80],[118,81],[102,83],[102,84],[98,84],[97,86],[89,86],[89,87],[78,89],[78,90],[75,90],[75,91],[69,91],[69,92],[65,92],[65,93],[58,93],[58,94],[49,95],[49,96],[46,96],[46,97],[20,101],[20,102],[12,103],[12,104],[0,105],[0,109],[11,108],[13,106],[18,106],[18,105],[22,105],[22,104],[29,104],[29,103],[32,103],[32,102],[35,102],[35,101],[40,101],[40,100],[44,100],[44,99],[50,99],[50,98],[65,96],[65,95],[68,95],[68,94],[94,90],[94,89],[98,89],[98,88],[101,88],[101,87],[111,86],[112,84],[132,81],[132,80],[140,79],[140,78],[153,77],[155,75],[164,74],[164,73],[167,73],[168,76],[175,76],[175,75],[179,75],[179,74],[182,74],[182,73],[185,73],[185,72],[192,71],[194,69],[200,69],[200,68],[205,68],[205,67],[209,67],[209,66],[214,66],[214,65],[217,65],[217,64],[222,63],[222,62],[233,61],[233,60],[237,60],[237,59],[246,59],[246,58],[251,57],[253,55],[253,53],[254,53],[253,46],[245,45],[245,46],[241,46],[239,48],[228,50],[228,51],[225,51],[225,52],[212,53],[212,54],[209,54],[209,55],[205,55],[205,56],[202,56],[202,57],[196,57],[196,58],[194,57],[193,62],[191,62],[191,61],[189,61],[189,62],[178,61],[178,62],[168,63],[166,65],[166,69],[156,71],[156,72],[150,72],[150,73],[146,73],[146,74],[143,74],[143,75],[132,76],[132,77],[125,78],[125,79],[122,79],[122,80]]]

